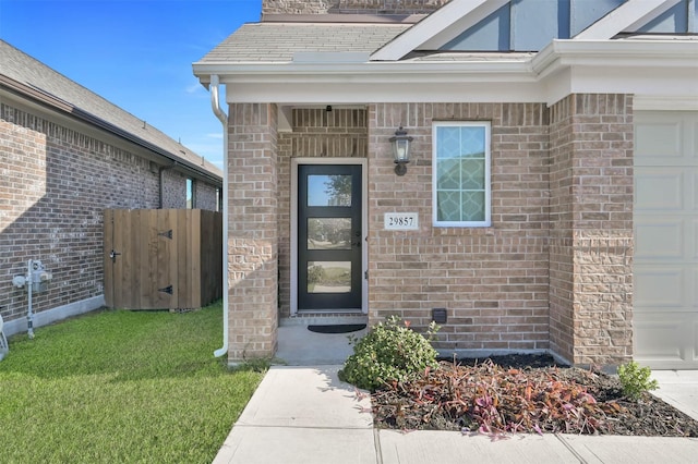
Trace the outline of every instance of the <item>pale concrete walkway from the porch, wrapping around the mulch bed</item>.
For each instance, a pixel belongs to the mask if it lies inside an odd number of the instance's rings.
[[[341,361],[346,358],[346,335],[317,337],[299,329],[279,329],[277,355],[289,357],[289,364],[303,362],[293,337],[316,343],[313,353],[304,355],[333,359],[335,353],[344,356]],[[334,343],[328,343],[330,339]],[[514,435],[492,441],[453,431],[377,430],[372,425],[370,398],[337,378],[340,364],[269,369],[214,463],[698,464],[697,438]],[[660,398],[698,418],[698,371],[657,371],[654,376]]]

